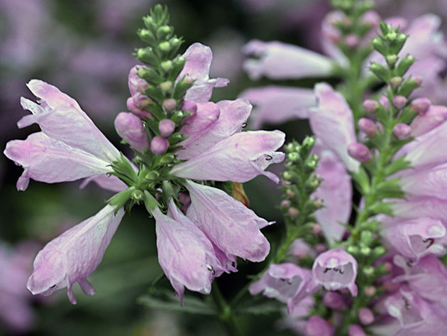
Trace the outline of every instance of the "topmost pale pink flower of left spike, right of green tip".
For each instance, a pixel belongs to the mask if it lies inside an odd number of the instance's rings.
[[[194,102],[208,102],[211,98],[214,87],[226,87],[228,80],[226,78],[209,79],[209,69],[213,53],[211,48],[201,43],[194,43],[187,48],[183,57],[186,58],[179,79],[184,76],[190,76],[195,80],[194,85],[187,91],[184,99]]]

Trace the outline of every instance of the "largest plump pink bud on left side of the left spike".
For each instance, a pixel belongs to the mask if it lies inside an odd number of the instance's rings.
[[[143,153],[149,149],[149,139],[138,116],[121,112],[115,119],[116,133],[129,145]]]

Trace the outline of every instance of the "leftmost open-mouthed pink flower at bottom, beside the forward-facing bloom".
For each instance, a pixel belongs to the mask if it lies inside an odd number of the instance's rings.
[[[251,295],[263,292],[267,298],[276,298],[284,303],[304,291],[311,272],[308,269],[285,263],[270,264],[260,280],[252,283],[248,291]]]

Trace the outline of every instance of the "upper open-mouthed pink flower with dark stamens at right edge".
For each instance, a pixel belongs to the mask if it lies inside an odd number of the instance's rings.
[[[420,259],[427,254],[444,254],[442,240],[446,237],[446,227],[440,220],[420,217],[402,220],[382,227],[381,235],[387,244],[399,254]]]

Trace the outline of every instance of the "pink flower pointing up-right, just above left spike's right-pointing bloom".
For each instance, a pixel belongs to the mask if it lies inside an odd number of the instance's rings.
[[[206,111],[202,110],[206,107]],[[217,104],[197,104],[197,112],[189,124],[182,128],[188,136],[179,143],[181,160],[198,156],[219,141],[241,131],[250,115],[251,105],[246,99],[222,100]]]

